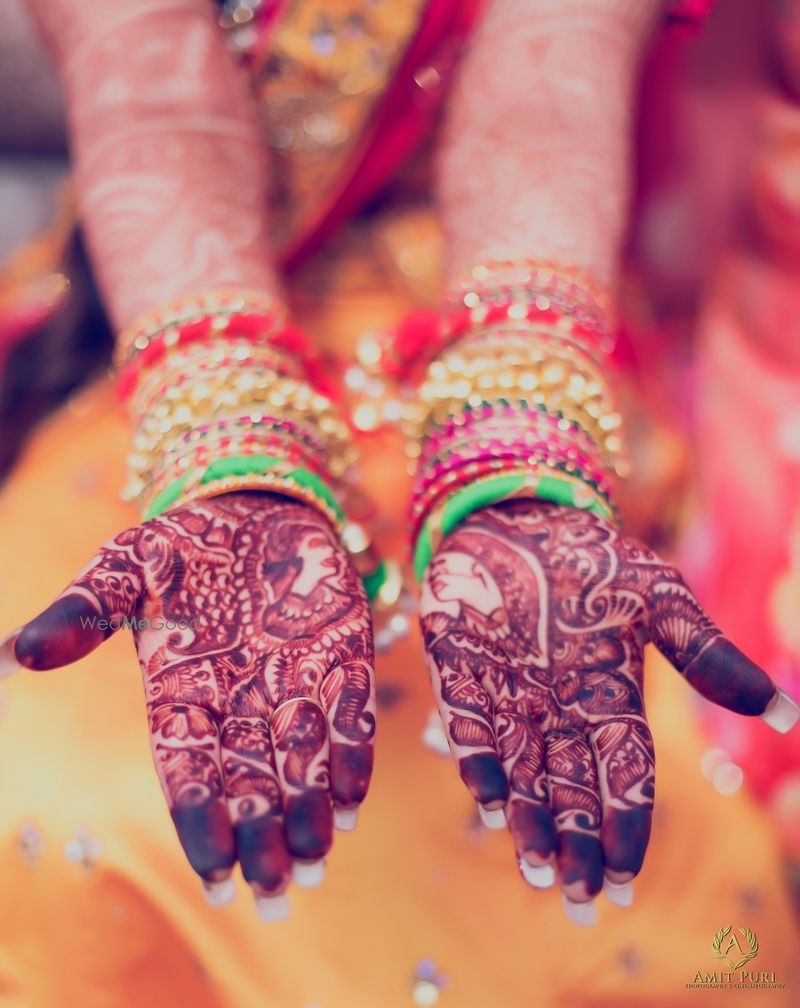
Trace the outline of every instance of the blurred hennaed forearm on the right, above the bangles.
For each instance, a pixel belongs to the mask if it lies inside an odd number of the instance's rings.
[[[489,259],[616,279],[637,70],[660,0],[490,0],[449,100],[450,278]]]

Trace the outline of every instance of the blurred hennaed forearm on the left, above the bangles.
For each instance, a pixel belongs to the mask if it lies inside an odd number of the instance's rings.
[[[28,0],[66,95],[78,199],[117,328],[224,284],[276,289],[266,150],[205,0]]]

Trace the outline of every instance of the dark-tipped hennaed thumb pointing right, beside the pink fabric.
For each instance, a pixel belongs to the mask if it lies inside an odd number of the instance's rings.
[[[651,587],[649,629],[659,651],[706,700],[759,716],[778,732],[800,719],[794,701],[724,636],[672,569]]]

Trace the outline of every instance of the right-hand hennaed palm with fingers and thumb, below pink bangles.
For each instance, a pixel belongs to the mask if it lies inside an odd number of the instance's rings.
[[[630,902],[647,848],[648,640],[708,700],[779,731],[798,718],[674,568],[585,511],[520,500],[473,514],[434,556],[421,616],[464,783],[487,825],[508,823],[532,885],[557,870],[578,922],[604,885]]]

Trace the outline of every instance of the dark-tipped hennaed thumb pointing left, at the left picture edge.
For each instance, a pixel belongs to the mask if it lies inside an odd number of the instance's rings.
[[[0,678],[20,666],[57,668],[78,661],[118,630],[142,596],[132,531],[102,546],[44,612],[0,643]]]

